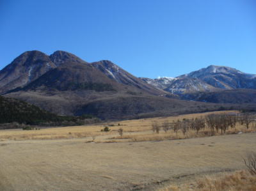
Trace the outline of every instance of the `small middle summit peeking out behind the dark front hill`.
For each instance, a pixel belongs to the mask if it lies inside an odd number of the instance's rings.
[[[70,52],[66,52],[63,50],[57,50],[51,54],[50,59],[56,66],[60,66],[63,63],[72,62],[72,63],[86,63],[83,59],[77,57]]]

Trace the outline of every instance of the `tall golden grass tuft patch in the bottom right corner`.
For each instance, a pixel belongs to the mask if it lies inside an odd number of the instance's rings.
[[[232,173],[222,172],[213,176],[205,176],[195,181],[195,183],[189,183],[185,185],[170,185],[165,188],[161,188],[158,191],[179,191],[179,190],[199,190],[199,191],[218,191],[218,190],[256,190],[256,175],[250,172],[236,171]]]

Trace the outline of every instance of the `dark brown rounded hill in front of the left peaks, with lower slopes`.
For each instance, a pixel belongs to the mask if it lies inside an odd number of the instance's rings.
[[[20,98],[57,114],[93,114],[102,119],[184,112],[189,105],[197,109],[194,103],[150,95],[142,88],[118,83],[84,63],[62,63],[6,96]]]

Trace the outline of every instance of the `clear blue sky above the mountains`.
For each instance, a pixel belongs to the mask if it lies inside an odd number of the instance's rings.
[[[137,77],[256,73],[256,1],[0,0],[0,69],[26,50],[109,59]]]

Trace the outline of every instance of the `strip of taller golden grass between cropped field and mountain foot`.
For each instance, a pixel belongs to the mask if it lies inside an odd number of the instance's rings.
[[[166,139],[186,139],[196,137],[207,137],[210,135],[209,128],[201,130],[198,134],[189,130],[186,135],[181,131],[174,133],[173,130],[164,132],[161,130],[159,134],[152,132],[152,121],[157,121],[160,125],[164,121],[176,121],[177,119],[192,119],[205,116],[207,114],[220,114],[238,111],[218,111],[205,112],[200,114],[186,114],[180,116],[170,116],[162,118],[133,119],[126,121],[115,121],[98,125],[88,126],[66,126],[59,128],[42,128],[41,130],[0,130],[0,141],[5,140],[29,140],[29,139],[74,139],[87,138],[93,142],[134,142],[134,141],[163,141]],[[109,132],[101,130],[109,126]],[[122,128],[124,134],[122,137],[118,134],[118,129]],[[238,132],[252,132],[253,129],[247,130],[245,126],[237,123],[236,128],[229,128],[226,134],[236,134]],[[220,135],[220,133],[216,133]]]

